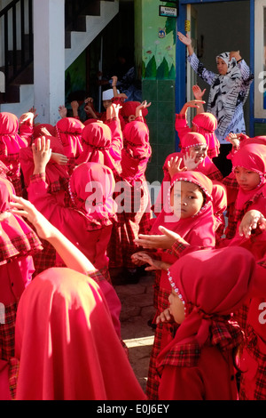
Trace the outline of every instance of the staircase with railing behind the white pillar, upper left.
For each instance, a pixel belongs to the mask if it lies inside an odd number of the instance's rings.
[[[5,76],[5,89],[0,91],[0,111],[16,115],[30,109],[34,103],[32,7],[33,0],[13,0],[0,12],[0,27],[4,28],[4,64],[0,71]],[[65,0],[65,68],[118,12],[119,0]]]

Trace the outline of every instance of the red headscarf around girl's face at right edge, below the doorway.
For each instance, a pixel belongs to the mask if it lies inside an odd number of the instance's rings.
[[[254,199],[254,197],[258,197],[259,195],[262,195],[266,198],[266,147],[257,143],[246,144],[233,156],[232,165],[232,172],[237,166],[244,167],[246,170],[258,173],[261,179],[260,184],[253,190],[245,191],[239,188],[238,197],[235,203],[235,208],[237,211],[236,220],[238,220],[239,217],[241,217],[241,214],[243,214],[247,202]],[[265,216],[266,210],[264,202],[264,199],[262,199],[261,204],[258,204],[257,207],[254,207],[253,205],[253,209],[257,209]]]

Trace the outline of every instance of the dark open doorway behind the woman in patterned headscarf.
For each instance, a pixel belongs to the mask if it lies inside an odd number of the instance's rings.
[[[183,5],[182,5],[183,4]],[[182,7],[183,15],[182,15]],[[189,26],[191,32],[189,35],[194,38],[195,52],[207,69],[216,72],[215,57],[225,51],[240,51],[245,58],[246,63],[250,65],[250,2],[248,0],[240,1],[214,1],[198,2],[182,1],[180,2],[180,20],[178,30],[184,32],[185,26]],[[183,21],[182,21],[183,20]],[[187,22],[186,20],[189,20]],[[178,25],[177,25],[178,26]],[[178,42],[178,41],[177,41]],[[183,91],[184,101],[193,99],[192,83],[196,81],[201,89],[206,88],[204,100],[207,101],[209,87],[199,76],[194,78],[188,75],[191,71],[190,66],[186,66],[184,54],[179,55],[183,60],[186,76],[186,88]],[[182,63],[181,63],[182,65]],[[181,96],[179,96],[179,100]],[[178,99],[177,99],[178,101]],[[184,105],[180,102],[180,109]],[[179,110],[180,110],[179,109]],[[176,109],[178,111],[178,109]],[[248,100],[244,107],[246,120],[246,133],[249,133],[249,106]]]

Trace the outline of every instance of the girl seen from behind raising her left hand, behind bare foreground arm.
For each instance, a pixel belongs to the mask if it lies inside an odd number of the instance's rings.
[[[49,140],[42,137],[33,151],[35,171],[27,189],[28,199],[110,280],[106,247],[116,219],[112,170],[98,163],[78,165],[69,180],[71,206],[63,207],[48,193],[45,182],[45,166],[51,155]],[[60,263],[57,257],[57,265]]]

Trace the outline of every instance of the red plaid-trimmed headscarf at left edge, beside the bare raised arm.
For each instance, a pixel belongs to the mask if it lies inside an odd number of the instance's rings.
[[[0,213],[11,213],[11,194],[14,192],[10,181],[0,178]],[[0,264],[15,256],[30,255],[43,247],[27,222],[13,213],[0,222]]]

